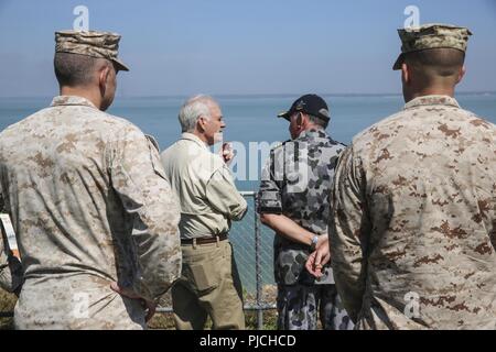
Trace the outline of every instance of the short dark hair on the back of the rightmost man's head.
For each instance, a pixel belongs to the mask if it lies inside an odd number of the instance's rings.
[[[407,65],[429,78],[448,78],[457,76],[465,62],[465,53],[456,48],[429,48],[408,53]]]

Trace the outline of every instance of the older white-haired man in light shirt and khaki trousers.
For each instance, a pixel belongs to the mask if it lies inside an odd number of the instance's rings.
[[[241,220],[246,200],[227,167],[233,153],[222,156],[209,146],[222,141],[226,123],[219,105],[208,96],[188,99],[179,120],[182,136],[162,153],[165,174],[181,204],[183,271],[172,288],[179,330],[245,329],[242,289],[233,248],[230,222]]]

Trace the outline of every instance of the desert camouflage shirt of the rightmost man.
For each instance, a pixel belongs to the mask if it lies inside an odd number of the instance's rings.
[[[425,96],[342,155],[330,231],[359,329],[496,329],[496,127]]]

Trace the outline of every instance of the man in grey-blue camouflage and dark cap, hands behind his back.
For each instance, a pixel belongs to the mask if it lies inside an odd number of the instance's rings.
[[[327,237],[331,180],[345,146],[325,132],[328,108],[319,96],[301,97],[279,117],[290,122],[293,140],[271,151],[257,206],[261,221],[277,233],[278,328],[314,330],[320,311],[324,329],[347,329],[351,321],[332,272],[315,279],[304,267],[312,249]]]

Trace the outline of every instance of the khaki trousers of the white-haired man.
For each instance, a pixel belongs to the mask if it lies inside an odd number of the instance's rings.
[[[242,288],[228,240],[182,245],[183,270],[172,287],[177,330],[203,330],[211,317],[215,330],[245,329]]]

